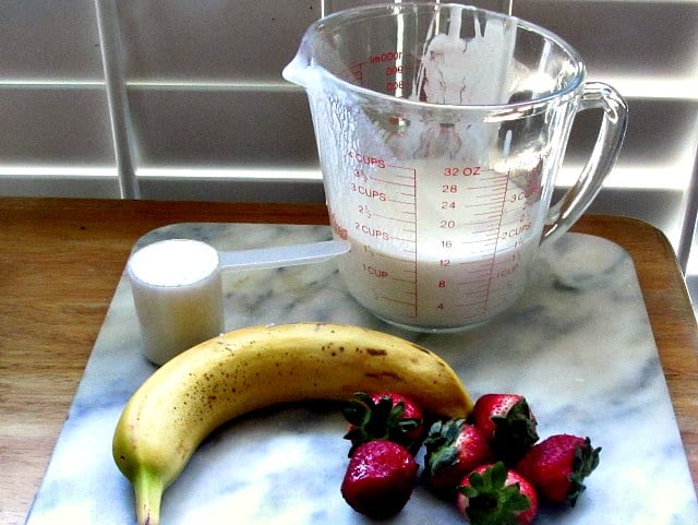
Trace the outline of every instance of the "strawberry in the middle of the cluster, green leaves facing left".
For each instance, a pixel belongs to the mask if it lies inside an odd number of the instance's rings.
[[[494,461],[484,434],[465,419],[436,421],[424,440],[424,476],[430,487],[448,496],[476,467]]]

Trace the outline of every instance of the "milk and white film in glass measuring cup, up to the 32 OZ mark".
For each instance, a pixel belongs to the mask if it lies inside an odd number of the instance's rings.
[[[350,293],[378,317],[456,330],[520,296],[540,238],[535,172],[382,162],[358,170],[349,190],[332,206],[335,228],[352,244],[339,267]]]

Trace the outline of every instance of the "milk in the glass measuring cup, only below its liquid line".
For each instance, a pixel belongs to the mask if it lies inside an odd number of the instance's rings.
[[[448,330],[477,324],[509,307],[526,286],[524,259],[537,242],[449,261],[440,253],[414,260],[351,239],[363,256],[344,258],[340,270],[354,298],[378,317],[405,326]]]

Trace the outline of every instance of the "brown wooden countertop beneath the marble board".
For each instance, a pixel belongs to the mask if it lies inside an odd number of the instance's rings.
[[[23,523],[133,244],[169,224],[327,224],[324,206],[0,199],[0,520]],[[576,231],[635,265],[698,479],[698,332],[674,253],[655,228],[586,216]]]

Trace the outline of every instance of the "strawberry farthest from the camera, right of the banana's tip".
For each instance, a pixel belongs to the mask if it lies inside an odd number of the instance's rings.
[[[481,396],[472,409],[472,420],[507,465],[514,465],[538,441],[535,416],[519,394]]]

